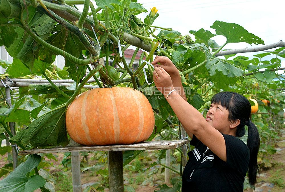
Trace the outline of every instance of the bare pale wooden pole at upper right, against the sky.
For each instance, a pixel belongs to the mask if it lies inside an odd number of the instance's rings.
[[[264,51],[276,47],[285,47],[285,42],[282,40],[278,41],[277,43],[272,43],[269,45],[264,45],[260,47],[251,47],[251,48],[242,48],[242,49],[232,49],[227,51],[220,51],[215,56],[222,56],[222,55],[230,55],[230,54],[236,54],[236,53],[246,53],[246,52],[257,52],[257,51]]]

